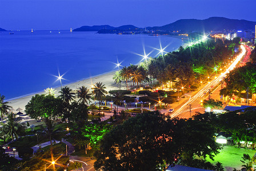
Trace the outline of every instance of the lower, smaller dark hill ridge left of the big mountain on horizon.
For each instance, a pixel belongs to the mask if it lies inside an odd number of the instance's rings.
[[[118,31],[130,31],[139,29],[133,25],[124,25],[120,27],[113,27],[109,25],[101,25],[101,26],[82,26],[79,28],[75,28],[73,31],[99,31],[99,30],[118,30]]]

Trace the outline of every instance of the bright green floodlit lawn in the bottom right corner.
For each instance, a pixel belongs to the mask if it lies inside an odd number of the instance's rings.
[[[206,160],[211,163],[219,161],[223,164],[224,167],[241,169],[243,164],[240,160],[242,160],[243,153],[247,153],[250,155],[250,157],[253,157],[255,150],[235,148],[234,146],[223,146],[223,149],[220,151],[220,153],[214,157],[214,161],[210,160],[208,157]]]

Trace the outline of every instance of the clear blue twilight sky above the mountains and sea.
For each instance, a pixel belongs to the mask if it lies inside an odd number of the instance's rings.
[[[92,25],[162,26],[178,19],[256,21],[256,0],[0,0],[0,27],[68,30]]]

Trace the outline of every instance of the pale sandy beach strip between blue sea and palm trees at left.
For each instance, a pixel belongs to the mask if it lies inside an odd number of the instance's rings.
[[[106,86],[106,91],[109,92],[110,90],[113,90],[113,89],[118,89],[118,84],[115,84],[114,83],[114,80],[113,80],[113,75],[115,74],[115,71],[112,71],[112,72],[107,72],[106,74],[102,74],[102,75],[98,75],[98,76],[94,76],[94,77],[91,77],[89,79],[85,79],[85,80],[80,80],[78,82],[74,82],[74,83],[70,83],[70,84],[66,84],[65,86],[73,89],[73,90],[76,90],[78,89],[79,87],[82,87],[82,86],[85,86],[87,88],[90,88],[92,84],[96,83],[96,82],[102,82],[103,84],[105,84]],[[122,84],[121,84],[122,85]],[[124,85],[124,84],[123,84]],[[62,86],[62,87],[65,87],[65,86]],[[56,94],[59,95],[59,91],[60,91],[61,87],[57,87],[55,88],[56,90]],[[35,93],[35,94],[39,94],[41,95],[43,93],[42,92],[39,92],[39,93]],[[18,99],[14,99],[14,100],[10,100],[9,101],[9,105],[11,107],[13,107],[14,109],[14,113],[17,113],[18,111],[16,111],[16,109],[18,108],[22,108],[23,111],[21,111],[22,113],[25,113],[24,110],[25,110],[25,105],[27,105],[27,103],[29,103],[29,101],[31,100],[31,97],[33,97],[35,94],[33,95],[27,95],[27,96],[24,96],[24,97],[20,97]]]

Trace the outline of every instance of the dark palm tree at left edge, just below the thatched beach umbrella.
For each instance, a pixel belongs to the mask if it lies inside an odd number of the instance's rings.
[[[7,135],[14,140],[14,136],[18,139],[18,136],[25,132],[26,126],[23,123],[18,123],[18,121],[15,120],[14,113],[10,113],[7,116],[7,121],[6,124],[3,125],[3,128],[8,131]]]

